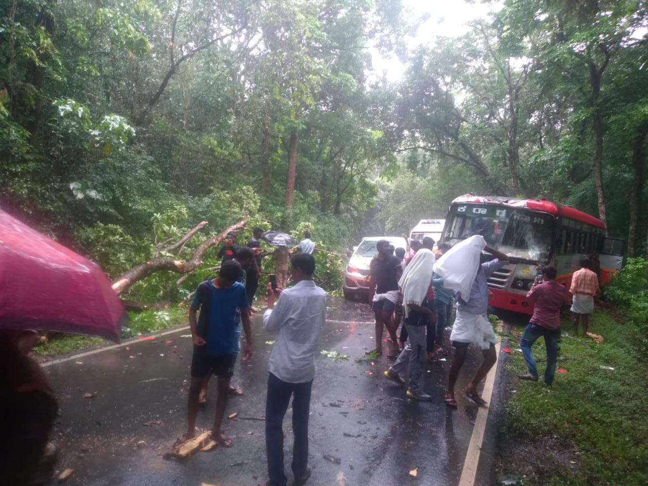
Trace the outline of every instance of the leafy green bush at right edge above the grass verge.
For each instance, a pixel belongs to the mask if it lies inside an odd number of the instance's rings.
[[[627,323],[636,327],[634,341],[643,356],[648,357],[648,262],[642,258],[628,259],[612,283],[605,288],[605,297],[619,308]]]

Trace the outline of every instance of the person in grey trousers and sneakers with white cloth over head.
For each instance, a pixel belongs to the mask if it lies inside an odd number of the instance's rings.
[[[409,364],[407,397],[425,401],[432,399],[421,387],[426,359],[426,327],[428,322],[434,325],[436,317],[430,308],[424,306],[424,301],[432,282],[434,260],[432,250],[419,249],[400,277],[399,286],[403,294],[404,325],[408,332],[408,341],[399,358],[384,373],[389,380],[404,384],[401,375]]]

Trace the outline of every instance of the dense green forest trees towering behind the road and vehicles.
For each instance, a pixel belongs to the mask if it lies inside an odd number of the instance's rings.
[[[421,16],[399,0],[0,0],[0,207],[111,277],[188,259],[199,237],[168,242],[203,221],[340,251],[470,191],[573,205],[643,255],[648,4],[493,12],[410,49]],[[131,293],[176,299],[210,255]]]

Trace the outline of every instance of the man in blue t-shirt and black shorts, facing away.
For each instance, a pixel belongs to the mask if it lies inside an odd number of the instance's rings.
[[[196,435],[198,397],[205,378],[213,371],[218,376],[216,417],[211,437],[218,444],[229,447],[232,442],[222,434],[220,426],[225,415],[229,382],[234,373],[237,357],[237,310],[246,335],[244,354],[250,353],[252,336],[248,313],[248,295],[239,282],[243,269],[236,260],[229,260],[220,267],[220,275],[198,285],[196,296],[189,307],[189,325],[193,338],[194,353],[191,360],[191,385],[189,386],[188,427],[184,439]],[[196,312],[200,316],[196,321]]]

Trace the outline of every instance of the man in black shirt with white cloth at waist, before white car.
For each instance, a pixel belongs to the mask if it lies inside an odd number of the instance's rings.
[[[376,243],[378,254],[369,264],[369,298],[371,299],[371,308],[376,316],[375,352],[382,354],[382,327],[384,325],[391,338],[390,356],[393,356],[399,349],[393,313],[399,299],[399,279],[402,275],[402,266],[400,266],[400,260],[389,251],[389,246],[387,240],[380,240]],[[367,351],[367,354],[373,351]]]

